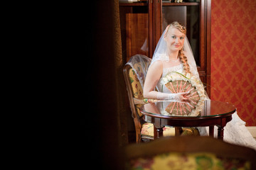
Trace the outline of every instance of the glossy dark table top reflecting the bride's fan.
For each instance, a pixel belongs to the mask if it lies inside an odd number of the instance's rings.
[[[221,101],[205,100],[196,105],[188,101],[158,101],[139,108],[144,115],[167,119],[203,119],[235,112],[235,106]]]

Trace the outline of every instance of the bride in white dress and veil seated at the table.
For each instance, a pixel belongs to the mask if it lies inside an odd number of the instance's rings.
[[[193,74],[201,81],[196,62],[189,42],[186,38],[186,28],[174,22],[166,27],[156,46],[151,64],[144,82],[144,98],[161,100],[187,100],[186,93],[171,94],[171,91],[161,81],[169,72]],[[154,91],[154,89],[158,91]],[[205,93],[206,94],[206,93]],[[207,96],[207,94],[206,94]],[[208,135],[206,128],[198,128],[201,135]],[[256,149],[256,140],[245,127],[238,114],[233,114],[232,120],[224,128],[224,140],[236,145],[243,145]],[[217,127],[215,127],[217,132]],[[217,135],[217,134],[215,134]]]

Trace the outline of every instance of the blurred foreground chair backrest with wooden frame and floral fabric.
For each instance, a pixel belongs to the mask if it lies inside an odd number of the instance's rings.
[[[168,137],[126,148],[130,169],[256,169],[256,151],[213,137]]]

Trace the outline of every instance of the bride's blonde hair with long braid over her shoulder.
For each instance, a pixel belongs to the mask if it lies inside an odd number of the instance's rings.
[[[173,23],[171,23],[169,26],[166,27],[166,33],[164,35],[165,37],[166,37],[166,34],[167,34],[169,28],[177,28],[179,31],[181,31],[181,33],[186,35],[186,27],[182,26],[177,21],[174,21]],[[183,48],[178,51],[178,57],[180,57],[181,62],[183,63],[184,72],[191,74],[191,71],[190,71],[189,65],[188,65],[188,58],[185,56],[185,52],[184,52]]]

